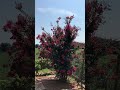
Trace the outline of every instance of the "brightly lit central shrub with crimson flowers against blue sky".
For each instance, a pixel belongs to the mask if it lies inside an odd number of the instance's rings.
[[[56,70],[57,77],[60,80],[67,80],[67,76],[72,75],[76,70],[76,67],[72,66],[76,51],[76,47],[73,46],[73,41],[77,36],[79,30],[76,26],[71,26],[71,21],[74,16],[66,17],[66,25],[64,28],[59,26],[58,18],[57,26],[53,27],[52,35],[47,33],[44,28],[42,35],[38,35],[37,39],[40,40],[40,58],[48,58],[52,61],[52,66]]]

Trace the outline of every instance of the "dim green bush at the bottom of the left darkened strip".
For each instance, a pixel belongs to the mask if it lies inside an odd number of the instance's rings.
[[[0,80],[1,90],[33,90],[34,89],[34,78],[10,78],[8,80]]]

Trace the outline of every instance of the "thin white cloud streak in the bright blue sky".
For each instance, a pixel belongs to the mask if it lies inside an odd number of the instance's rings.
[[[65,9],[58,9],[58,8],[37,8],[37,10],[41,13],[52,13],[52,14],[62,14],[62,15],[74,15],[77,16],[76,13],[73,13],[71,11],[65,10]]]

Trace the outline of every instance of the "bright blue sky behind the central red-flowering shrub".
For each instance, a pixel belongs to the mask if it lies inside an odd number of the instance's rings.
[[[64,18],[70,15],[75,16],[72,25],[81,28],[75,41],[85,42],[85,0],[35,0],[35,36],[43,32],[41,27],[51,33],[50,23],[56,25],[58,17],[62,18],[60,25],[63,26]]]

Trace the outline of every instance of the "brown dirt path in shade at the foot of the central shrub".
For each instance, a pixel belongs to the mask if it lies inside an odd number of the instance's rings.
[[[35,78],[35,90],[81,90],[77,83],[63,83],[58,81],[54,75],[39,76]]]

